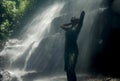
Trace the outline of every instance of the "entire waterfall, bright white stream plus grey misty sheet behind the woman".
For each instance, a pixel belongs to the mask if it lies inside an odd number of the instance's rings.
[[[90,50],[88,48],[90,39],[88,39],[88,34],[90,33],[91,26],[94,24],[96,15],[105,9],[100,8],[102,1],[67,0],[52,3],[50,6],[47,6],[44,11],[37,14],[23,28],[20,38],[10,39],[6,43],[4,50],[0,53],[0,55],[10,56],[10,67],[7,68],[8,71],[13,76],[16,76],[18,81],[53,81],[52,79],[58,81],[56,77],[51,78],[51,80],[34,79],[39,78],[40,75],[50,75],[54,72],[58,72],[59,74],[63,70],[64,32],[61,34],[62,30],[60,28],[56,29],[52,26],[59,27],[61,24],[69,22],[68,19],[73,15],[79,17],[82,10],[85,10],[86,16],[84,20],[85,24],[78,40],[80,55],[77,71],[81,71],[81,67],[88,67],[90,56]],[[96,8],[93,8],[94,6]],[[57,25],[53,24],[55,19],[58,19],[58,22],[56,22]],[[88,19],[91,19],[91,21]],[[61,21],[59,22],[59,20]],[[52,28],[57,33],[49,35]],[[31,75],[29,75],[26,76],[27,79],[23,80],[23,76],[27,74],[33,74],[32,76],[34,78],[30,78],[29,76]],[[63,71],[62,74],[64,74]],[[64,76],[61,77],[64,78]]]

